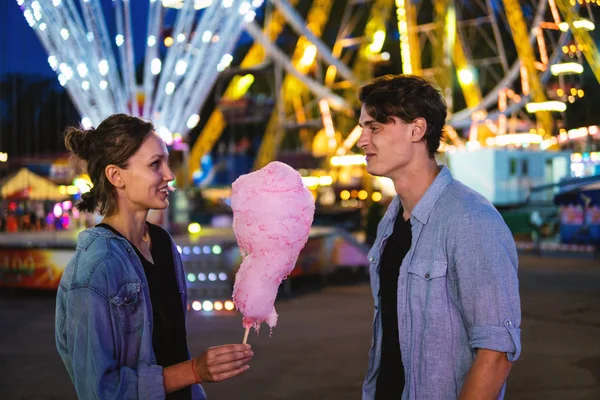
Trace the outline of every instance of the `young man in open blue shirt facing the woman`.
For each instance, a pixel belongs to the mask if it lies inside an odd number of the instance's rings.
[[[503,398],[521,353],[512,235],[483,196],[437,165],[446,105],[429,82],[388,75],[360,100],[367,171],[398,194],[369,253],[375,317],[363,400]]]

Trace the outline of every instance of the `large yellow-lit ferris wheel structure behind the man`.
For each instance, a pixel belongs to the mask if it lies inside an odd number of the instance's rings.
[[[261,36],[256,27],[250,32],[271,57],[296,73],[280,84],[282,105],[269,120],[255,168],[275,159],[285,135],[282,126],[306,124],[307,108],[314,109],[320,98],[327,98],[327,90],[345,97],[345,103],[337,101],[338,111],[348,110],[358,86],[373,76],[374,65],[390,59],[382,51],[390,21],[397,23],[400,38],[396,49],[402,68],[397,72],[425,76],[441,87],[449,106],[447,132],[454,145],[464,146],[461,136],[467,144],[480,146],[486,139],[506,139],[506,133],[515,132],[535,132],[544,141],[542,149],[556,145],[556,113],[583,96],[579,74],[584,56],[600,80],[598,51],[589,35],[594,29],[591,7],[596,4],[579,1],[345,2],[343,9],[337,8],[342,15],[337,38],[328,46],[320,37],[334,1],[315,0],[300,17],[293,8],[297,2],[272,0],[274,22],[263,27],[270,37]],[[364,29],[352,37],[359,25],[354,16],[361,13]],[[299,36],[289,59],[274,46],[282,21],[288,21]],[[316,89],[308,82],[311,75],[321,77]],[[332,96],[328,104],[334,104]],[[328,120],[328,104],[318,108],[322,143],[325,147],[331,143],[325,154],[345,154],[360,129],[342,127],[346,139],[339,140],[338,127]],[[205,154],[222,131],[223,121],[216,116],[218,112],[196,142],[192,161]]]

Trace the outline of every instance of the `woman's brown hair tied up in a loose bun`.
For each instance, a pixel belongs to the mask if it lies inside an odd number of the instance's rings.
[[[117,192],[104,170],[108,165],[127,168],[127,161],[133,156],[148,135],[154,132],[154,125],[137,117],[115,114],[106,118],[96,129],[68,127],[65,130],[65,146],[75,161],[83,162],[92,180],[93,187],[81,196],[77,204],[80,211],[101,215],[117,212]]]

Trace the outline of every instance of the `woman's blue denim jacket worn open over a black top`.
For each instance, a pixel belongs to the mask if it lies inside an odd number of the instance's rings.
[[[183,309],[187,293],[173,248]],[[129,242],[96,227],[79,234],[56,299],[56,346],[80,399],[164,399],[163,368],[152,347],[152,304],[142,263]],[[189,356],[189,352],[188,352]],[[200,385],[194,399],[206,399]]]

